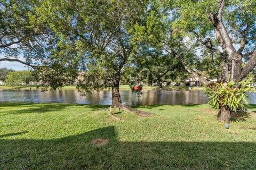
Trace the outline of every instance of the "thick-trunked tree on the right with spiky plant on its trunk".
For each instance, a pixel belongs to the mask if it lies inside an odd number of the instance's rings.
[[[241,81],[256,66],[255,1],[175,1],[171,10],[175,36],[195,38],[221,59],[222,83]],[[191,43],[191,41],[190,41]],[[221,50],[220,50],[221,49]],[[204,75],[186,70],[209,85]],[[229,121],[231,109],[220,106],[218,119]]]

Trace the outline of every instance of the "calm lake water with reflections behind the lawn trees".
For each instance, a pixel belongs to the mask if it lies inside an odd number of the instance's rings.
[[[140,98],[131,90],[121,90],[121,98],[126,105],[180,105],[206,104],[207,97],[202,91],[189,90],[142,90]],[[256,93],[249,93],[250,104],[256,104]],[[111,91],[93,91],[81,96],[77,90],[0,90],[0,102],[22,101],[29,103],[76,103],[111,105]]]

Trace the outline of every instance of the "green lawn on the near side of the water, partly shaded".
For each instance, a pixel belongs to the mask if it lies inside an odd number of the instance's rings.
[[[154,115],[116,112],[123,121],[105,107],[0,103],[0,169],[256,167],[255,113],[227,130],[209,105],[141,106]]]

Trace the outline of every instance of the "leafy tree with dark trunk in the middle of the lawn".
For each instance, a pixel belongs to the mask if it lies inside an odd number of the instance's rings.
[[[119,81],[135,55],[132,30],[146,10],[146,1],[44,1],[38,11],[60,41],[75,41],[84,72],[78,90],[111,88],[112,106],[121,107]]]

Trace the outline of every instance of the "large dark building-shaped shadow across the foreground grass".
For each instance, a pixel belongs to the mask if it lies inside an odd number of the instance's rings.
[[[108,139],[95,147],[93,139]],[[125,142],[114,126],[61,139],[0,139],[0,169],[254,169],[256,142]]]

